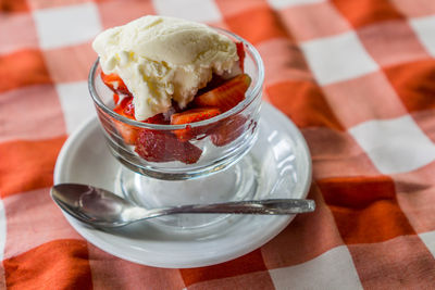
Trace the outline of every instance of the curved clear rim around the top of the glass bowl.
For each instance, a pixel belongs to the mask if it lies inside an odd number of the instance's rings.
[[[210,26],[211,27],[211,26]],[[100,58],[98,56],[97,60],[95,61],[95,63],[92,64],[90,71],[89,71],[89,75],[88,75],[88,89],[89,89],[89,93],[92,97],[94,102],[107,114],[109,114],[110,116],[112,116],[113,118],[128,124],[130,126],[135,126],[135,127],[139,127],[139,128],[147,128],[147,129],[154,129],[154,130],[175,130],[175,129],[185,129],[186,126],[189,127],[200,127],[200,126],[207,126],[213,123],[217,123],[221,119],[224,119],[228,116],[232,115],[236,115],[237,113],[241,112],[246,106],[248,106],[254,99],[257,96],[259,96],[261,93],[261,90],[263,88],[263,83],[264,83],[264,65],[263,65],[263,61],[260,56],[260,53],[257,51],[257,49],[247,40],[245,40],[244,38],[241,38],[240,36],[233,34],[228,30],[225,30],[223,28],[219,28],[219,27],[211,27],[222,34],[227,34],[231,37],[235,38],[236,40],[240,41],[244,43],[245,47],[248,48],[248,51],[252,54],[252,59],[254,61],[254,63],[257,64],[258,67],[258,80],[256,81],[252,90],[250,91],[249,94],[246,96],[246,98],[239,102],[236,106],[232,108],[231,110],[219,114],[217,116],[204,119],[204,121],[200,121],[200,122],[195,122],[195,123],[189,123],[189,124],[182,124],[182,125],[164,125],[164,124],[151,124],[151,123],[144,123],[144,122],[139,122],[136,119],[130,119],[127,117],[124,117],[117,113],[115,113],[113,110],[109,109],[99,98],[98,92],[95,88],[95,75],[97,72],[97,67],[99,65],[99,60]]]

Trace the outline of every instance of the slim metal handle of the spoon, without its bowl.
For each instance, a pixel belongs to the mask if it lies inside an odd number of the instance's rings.
[[[179,205],[167,209],[151,210],[149,217],[183,213],[216,213],[216,214],[265,214],[285,215],[312,212],[315,209],[313,200],[273,199],[261,201],[236,201],[216,204]]]

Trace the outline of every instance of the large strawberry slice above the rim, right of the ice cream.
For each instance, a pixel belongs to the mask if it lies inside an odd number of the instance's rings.
[[[238,75],[220,87],[202,93],[194,99],[194,105],[197,108],[219,108],[222,112],[236,106],[245,99],[251,78],[247,74]]]

